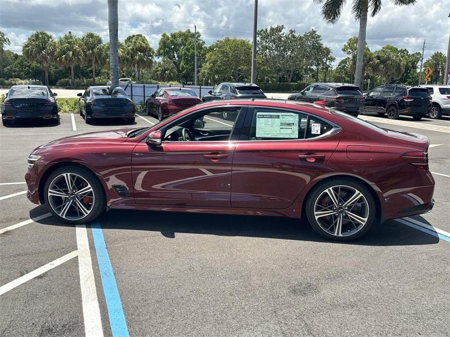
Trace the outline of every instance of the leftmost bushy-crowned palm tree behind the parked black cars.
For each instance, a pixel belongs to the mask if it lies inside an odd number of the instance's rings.
[[[52,35],[39,31],[31,34],[22,47],[23,56],[36,62],[44,70],[45,85],[49,85],[49,69],[54,61],[55,46]]]

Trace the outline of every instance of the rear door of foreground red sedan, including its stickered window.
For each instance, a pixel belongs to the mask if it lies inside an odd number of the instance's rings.
[[[234,150],[232,207],[289,207],[336,150],[340,131],[297,110],[249,107]]]

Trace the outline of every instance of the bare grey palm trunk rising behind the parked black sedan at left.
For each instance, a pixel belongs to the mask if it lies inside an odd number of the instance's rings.
[[[119,86],[119,17],[118,0],[108,0],[108,28],[109,28],[109,71],[111,85],[109,93]]]

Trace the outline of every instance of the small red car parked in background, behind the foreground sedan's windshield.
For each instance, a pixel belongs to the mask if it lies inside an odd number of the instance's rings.
[[[145,102],[147,115],[156,115],[159,120],[201,102],[196,92],[189,88],[159,88]]]

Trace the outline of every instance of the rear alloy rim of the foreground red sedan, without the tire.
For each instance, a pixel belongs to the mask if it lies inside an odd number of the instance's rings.
[[[321,229],[332,236],[351,236],[367,223],[369,204],[354,187],[328,187],[314,203],[314,218]]]

